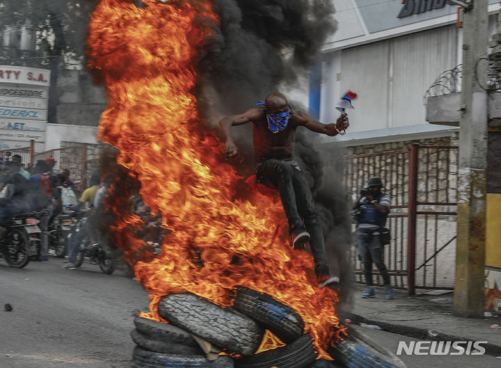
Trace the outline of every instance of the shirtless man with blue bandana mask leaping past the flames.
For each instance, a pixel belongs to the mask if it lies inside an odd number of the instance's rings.
[[[292,110],[281,93],[270,93],[264,102],[256,105],[219,122],[226,138],[226,155],[232,157],[238,153],[230,127],[252,122],[257,182],[278,189],[289,222],[292,248],[304,249],[310,241],[319,287],[335,286],[339,277],[331,272],[328,264],[313,195],[293,155],[297,127],[336,136],[348,127],[347,115],[342,114],[335,124],[326,125],[307,113]]]

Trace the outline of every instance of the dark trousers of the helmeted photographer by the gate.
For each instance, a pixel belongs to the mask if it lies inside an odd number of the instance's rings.
[[[390,285],[390,275],[383,262],[383,247],[379,234],[357,230],[358,252],[363,262],[363,272],[367,286],[372,286],[372,263],[376,265],[383,277],[384,285]]]

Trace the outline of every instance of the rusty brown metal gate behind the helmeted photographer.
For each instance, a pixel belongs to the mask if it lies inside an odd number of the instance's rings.
[[[392,199],[391,241],[384,249],[392,285],[408,289],[453,289],[456,256],[458,147],[412,145],[409,150],[363,154],[349,159],[346,185],[353,202],[378,176]],[[353,225],[354,227],[354,225]],[[357,282],[362,264],[353,252]],[[379,271],[374,281],[382,285]]]

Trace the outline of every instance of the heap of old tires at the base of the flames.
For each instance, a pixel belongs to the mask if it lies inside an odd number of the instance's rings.
[[[141,317],[134,320],[133,368],[342,367],[337,362],[316,360],[312,338],[304,334],[299,314],[267,294],[240,288],[231,308],[220,307],[194,294],[170,294],[162,298],[158,312],[170,324]],[[265,329],[286,345],[255,354]],[[198,338],[239,358],[216,355],[216,359],[209,360],[196,341]]]

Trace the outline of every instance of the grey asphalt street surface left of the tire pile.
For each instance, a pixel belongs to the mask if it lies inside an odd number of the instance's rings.
[[[148,293],[121,270],[61,264],[50,257],[11,269],[0,259],[0,367],[127,367],[132,314],[148,309]]]

